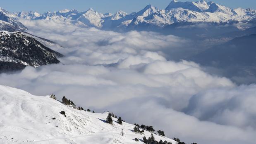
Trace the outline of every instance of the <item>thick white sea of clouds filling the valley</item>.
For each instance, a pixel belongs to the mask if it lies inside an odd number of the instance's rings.
[[[0,74],[0,84],[35,95],[63,96],[84,109],[111,111],[153,125],[187,143],[254,144],[256,85],[236,85],[166,51],[191,40],[154,32],[116,33],[52,21],[22,21],[29,33],[57,42],[60,64]]]

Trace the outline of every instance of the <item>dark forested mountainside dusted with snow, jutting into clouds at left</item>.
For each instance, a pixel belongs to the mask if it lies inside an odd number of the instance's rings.
[[[0,72],[56,64],[62,54],[20,32],[0,32]]]

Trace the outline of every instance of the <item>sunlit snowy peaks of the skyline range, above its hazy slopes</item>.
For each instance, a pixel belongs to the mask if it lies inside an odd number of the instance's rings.
[[[58,12],[38,14],[35,12],[21,12],[17,17],[24,19],[47,19],[65,24],[78,26],[93,26],[97,28],[127,28],[130,26],[158,26],[183,22],[207,23],[237,23],[248,22],[256,18],[254,9],[231,9],[214,2],[200,0],[198,2],[178,2],[172,0],[165,9],[158,9],[147,5],[139,12],[127,14],[119,11],[116,14],[102,14],[93,9],[85,12],[64,9]]]

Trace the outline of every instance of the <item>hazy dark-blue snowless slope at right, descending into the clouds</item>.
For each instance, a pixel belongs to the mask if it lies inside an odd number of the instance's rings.
[[[221,75],[231,78],[236,83],[255,83],[256,34],[234,38],[223,45],[214,46],[189,57],[187,60],[218,68]]]

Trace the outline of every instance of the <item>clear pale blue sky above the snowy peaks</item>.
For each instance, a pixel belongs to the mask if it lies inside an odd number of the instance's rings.
[[[10,12],[36,11],[39,13],[57,11],[64,8],[85,11],[90,7],[96,11],[114,13],[123,10],[127,13],[139,11],[148,4],[164,9],[171,0],[2,0],[0,7]],[[189,0],[178,0],[189,1]],[[198,1],[198,0],[190,0]],[[212,0],[231,8],[243,7],[256,9],[256,0]]]

